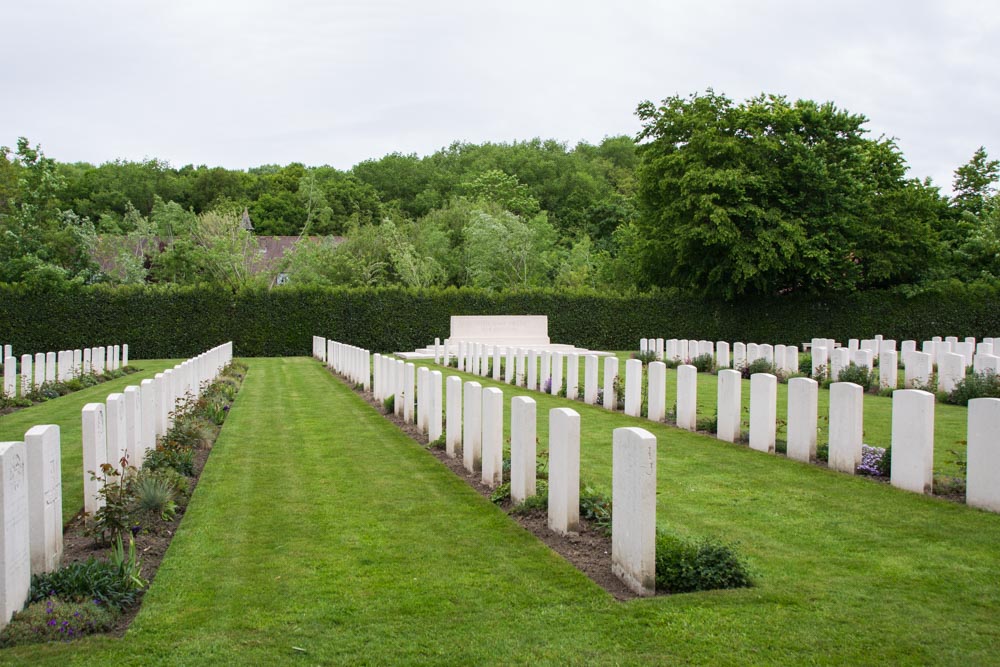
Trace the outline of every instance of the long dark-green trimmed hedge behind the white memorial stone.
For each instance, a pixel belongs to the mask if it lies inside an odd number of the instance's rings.
[[[321,335],[372,351],[445,338],[451,315],[548,315],[553,342],[632,349],[641,337],[800,344],[814,336],[1000,335],[1000,289],[948,286],[906,296],[863,292],[726,303],[669,291],[639,296],[555,290],[405,288],[246,290],[0,285],[0,343],[16,354],[128,343],[134,359],[177,358],[232,340],[240,356],[307,355]]]

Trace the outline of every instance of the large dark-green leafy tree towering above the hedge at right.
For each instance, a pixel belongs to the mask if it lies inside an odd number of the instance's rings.
[[[833,104],[709,90],[643,102],[638,194],[653,284],[734,298],[916,280],[940,257],[936,190]]]

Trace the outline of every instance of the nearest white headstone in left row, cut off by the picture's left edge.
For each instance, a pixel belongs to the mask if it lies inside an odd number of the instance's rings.
[[[27,463],[23,442],[0,442],[0,627],[31,588]]]

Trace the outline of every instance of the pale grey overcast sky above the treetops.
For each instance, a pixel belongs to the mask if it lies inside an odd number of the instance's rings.
[[[635,134],[706,88],[832,101],[949,189],[1000,157],[1000,2],[3,0],[0,144],[346,169],[453,141]]]

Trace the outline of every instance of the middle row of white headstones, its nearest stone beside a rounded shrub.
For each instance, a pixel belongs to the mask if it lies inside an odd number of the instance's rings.
[[[319,338],[319,337],[316,337]],[[327,342],[329,345],[329,342]],[[335,349],[356,350],[357,359],[367,350],[340,343],[337,348],[323,346],[329,365]],[[313,355],[324,360],[321,346],[314,339]],[[355,358],[348,353],[347,359]],[[393,357],[371,355],[372,391],[384,401],[393,396],[396,414],[414,422],[428,439],[441,435],[442,374]],[[339,365],[339,364],[338,364]],[[360,361],[338,369],[351,381],[365,383],[367,371]],[[353,370],[348,370],[353,369]],[[358,377],[355,371],[361,371]],[[496,487],[503,483],[503,391],[483,389],[478,382],[448,378],[447,428],[445,450],[455,457],[459,449],[465,468],[479,472],[484,484]],[[416,397],[416,400],[415,400]],[[416,410],[414,411],[414,402]],[[536,405],[528,396],[511,399],[511,498],[522,502],[536,491]],[[641,428],[615,429],[612,437],[612,571],[638,595],[653,595],[656,590],[656,437]],[[575,532],[580,524],[580,415],[570,408],[549,412],[549,491],[548,525],[559,534]]]

